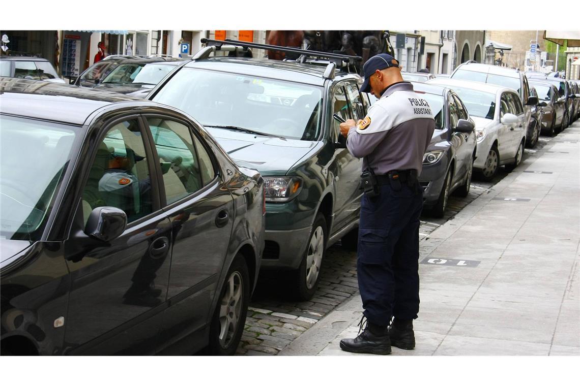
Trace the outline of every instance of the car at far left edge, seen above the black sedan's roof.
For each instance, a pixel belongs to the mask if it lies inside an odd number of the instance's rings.
[[[0,56],[0,76],[66,83],[59,78],[52,63],[34,56]]]

